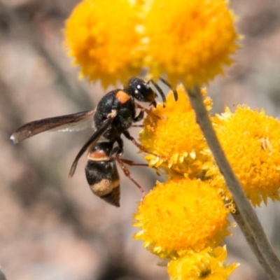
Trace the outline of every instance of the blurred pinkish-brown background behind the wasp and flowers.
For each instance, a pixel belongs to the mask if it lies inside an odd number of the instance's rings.
[[[14,146],[10,134],[31,120],[93,109],[105,91],[78,80],[62,47],[64,21],[76,0],[0,0],[0,265],[8,280],[168,279],[158,258],[132,235],[141,193],[120,172],[120,209],[92,195],[73,158],[91,131],[44,133]],[[237,64],[209,85],[213,112],[246,103],[280,115],[280,1],[232,1],[243,48]],[[137,137],[137,129],[132,129]],[[280,139],[279,139],[280,141]],[[125,140],[125,158],[141,162]],[[130,168],[146,191],[153,171]],[[280,250],[280,207],[257,209],[274,249]],[[226,239],[231,280],[265,280],[238,228]],[[1,276],[0,276],[1,279]]]

